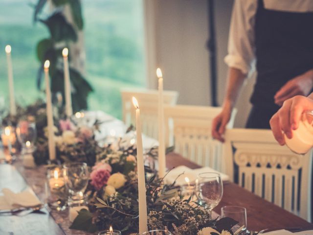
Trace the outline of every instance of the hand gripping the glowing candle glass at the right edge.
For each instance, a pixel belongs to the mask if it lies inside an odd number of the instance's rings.
[[[313,99],[296,95],[287,99],[283,106],[269,120],[270,128],[280,145],[285,144],[283,132],[292,138],[292,130],[296,130],[303,112],[313,110]]]

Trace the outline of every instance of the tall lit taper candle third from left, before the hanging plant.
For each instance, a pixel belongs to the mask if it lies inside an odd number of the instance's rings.
[[[63,49],[62,54],[63,54],[63,62],[64,62],[65,110],[66,110],[66,115],[69,118],[73,115],[73,110],[72,110],[71,87],[70,87],[70,79],[69,79],[67,47]]]

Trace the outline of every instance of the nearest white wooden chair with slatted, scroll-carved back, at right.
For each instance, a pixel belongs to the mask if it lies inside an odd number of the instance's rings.
[[[312,150],[297,155],[259,129],[227,130],[224,147],[226,173],[235,182],[311,221]]]

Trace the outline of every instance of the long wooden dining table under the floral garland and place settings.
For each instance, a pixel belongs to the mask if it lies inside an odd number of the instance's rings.
[[[170,153],[167,155],[167,168],[185,165],[190,168],[200,167],[181,155]],[[13,165],[0,164],[0,190],[10,187],[16,191],[31,187],[41,198],[46,170],[44,166],[26,169],[22,161]],[[247,228],[251,231],[278,228],[311,228],[313,225],[306,220],[260,198],[244,188],[231,182],[223,182],[224,194],[220,204],[214,209],[218,214],[221,207],[236,205],[247,210]],[[25,216],[1,215],[0,235],[87,235],[88,233],[70,230],[68,210],[42,210],[40,213],[30,213]]]

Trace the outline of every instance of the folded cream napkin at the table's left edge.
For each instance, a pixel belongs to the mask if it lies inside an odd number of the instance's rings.
[[[2,193],[3,196],[0,196],[0,210],[41,205],[40,200],[30,188],[18,193],[14,193],[8,188],[3,188]]]

